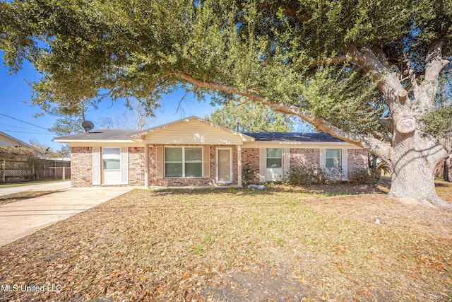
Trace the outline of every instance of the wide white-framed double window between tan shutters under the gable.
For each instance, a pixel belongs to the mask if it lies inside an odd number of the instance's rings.
[[[201,147],[165,147],[165,178],[202,178]]]

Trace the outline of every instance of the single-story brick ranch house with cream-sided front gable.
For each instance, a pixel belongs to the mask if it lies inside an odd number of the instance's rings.
[[[99,129],[59,137],[71,147],[73,187],[96,185],[242,186],[278,181],[299,165],[367,168],[367,151],[329,134],[239,133],[198,117],[147,130]]]

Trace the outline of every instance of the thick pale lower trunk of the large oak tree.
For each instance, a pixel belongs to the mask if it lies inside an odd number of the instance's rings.
[[[393,173],[389,196],[421,202],[430,207],[448,207],[435,190],[435,170],[446,150],[415,134],[398,134],[391,150]]]

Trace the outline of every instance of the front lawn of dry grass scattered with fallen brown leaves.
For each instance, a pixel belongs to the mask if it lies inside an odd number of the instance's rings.
[[[342,189],[134,190],[1,248],[0,301],[451,301],[452,211]]]

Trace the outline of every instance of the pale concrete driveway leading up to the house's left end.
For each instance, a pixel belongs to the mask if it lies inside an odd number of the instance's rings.
[[[131,190],[133,187],[66,188],[41,197],[4,204],[0,206],[0,246]]]

